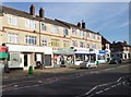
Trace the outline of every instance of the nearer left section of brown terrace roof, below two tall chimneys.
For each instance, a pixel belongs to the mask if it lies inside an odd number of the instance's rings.
[[[2,10],[0,10],[0,13],[9,13],[9,14],[13,14],[16,16],[27,17],[31,20],[36,20],[36,21],[46,22],[46,23],[53,24],[53,25],[59,25],[62,27],[69,27],[69,26],[67,26],[62,23],[59,23],[55,20],[47,19],[47,17],[41,19],[38,15],[31,15],[29,13],[27,13],[25,11],[15,10],[15,9],[3,7],[3,5],[2,7],[0,5],[0,8],[2,8]]]

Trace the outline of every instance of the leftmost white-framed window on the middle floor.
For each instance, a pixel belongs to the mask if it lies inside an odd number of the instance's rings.
[[[17,44],[19,43],[19,36],[13,33],[8,34],[8,41],[12,44]]]

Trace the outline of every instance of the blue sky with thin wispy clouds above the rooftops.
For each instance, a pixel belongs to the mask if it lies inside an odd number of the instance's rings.
[[[127,40],[129,44],[129,2],[2,2],[3,5],[29,12],[44,8],[45,16],[72,24],[84,20],[86,28],[100,33],[110,43]]]

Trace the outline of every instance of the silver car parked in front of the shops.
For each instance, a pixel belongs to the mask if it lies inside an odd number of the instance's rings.
[[[94,62],[94,61],[84,61],[84,62],[82,62],[82,63],[80,63],[80,68],[81,69],[84,69],[84,68],[97,68],[97,64],[96,64],[96,62]]]

